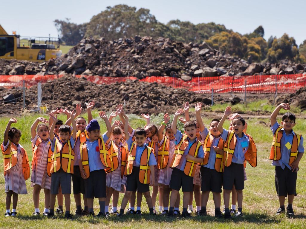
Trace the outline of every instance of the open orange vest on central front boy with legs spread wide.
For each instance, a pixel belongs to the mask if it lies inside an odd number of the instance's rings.
[[[128,154],[127,164],[124,170],[125,176],[130,175],[132,173],[133,163],[136,158],[136,148],[137,148],[137,145],[133,142],[132,147]],[[146,146],[140,157],[139,181],[142,184],[150,184],[151,171],[150,171],[150,166],[149,166],[149,159],[150,159],[151,152],[154,154],[154,149]]]

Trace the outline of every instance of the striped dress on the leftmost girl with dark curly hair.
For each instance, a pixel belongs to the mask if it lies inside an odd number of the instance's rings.
[[[12,142],[12,144],[14,144]],[[3,146],[4,150],[9,146],[9,141]],[[17,163],[14,167],[6,171],[4,176],[5,192],[13,191],[17,194],[28,194],[27,187],[22,172],[22,151],[20,150],[21,145],[17,146]]]

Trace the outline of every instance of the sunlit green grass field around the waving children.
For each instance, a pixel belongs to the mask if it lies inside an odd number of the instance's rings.
[[[218,109],[223,110],[223,106],[219,105],[212,107],[212,111]],[[255,106],[255,105],[254,105]],[[257,106],[256,106],[257,107]],[[258,104],[258,107],[262,107]],[[242,109],[242,108],[241,108]],[[249,109],[249,108],[243,108]],[[255,109],[255,108],[254,108]],[[268,111],[272,111],[274,108],[267,107]],[[293,108],[298,114],[298,108]],[[235,107],[233,107],[235,112]],[[18,129],[21,129],[22,137],[20,144],[24,146],[29,155],[29,160],[32,160],[32,150],[30,144],[30,128],[32,122],[39,117],[39,114],[31,114],[22,117],[17,117],[18,122],[13,125]],[[42,115],[47,118],[47,115]],[[219,113],[214,117],[203,118],[204,124],[209,124],[212,118],[221,118],[222,113]],[[84,115],[87,118],[87,115]],[[93,117],[97,118],[98,111],[93,111]],[[130,123],[132,127],[136,128],[138,126],[143,126],[145,120],[136,115],[129,115]],[[59,116],[59,119],[65,121],[65,116]],[[3,140],[3,132],[6,128],[6,124],[9,120],[7,118],[0,118],[0,139]],[[98,119],[101,125],[102,131],[105,130],[105,125],[101,118]],[[281,121],[281,116],[278,118]],[[151,122],[159,124],[162,121],[162,114],[157,116],[152,116]],[[263,124],[261,121],[267,123]],[[34,211],[34,205],[32,201],[32,188],[30,187],[30,179],[26,181],[28,194],[19,195],[17,212],[18,216],[16,218],[7,217],[4,218],[5,213],[5,198],[6,194],[4,192],[4,177],[0,176],[0,227],[1,228],[12,228],[12,227],[22,227],[22,228],[305,228],[305,210],[306,210],[306,167],[305,167],[305,157],[300,161],[300,172],[297,178],[297,197],[293,202],[293,209],[295,211],[296,217],[294,219],[288,219],[285,215],[276,216],[275,212],[279,207],[278,198],[276,195],[274,187],[274,167],[271,166],[271,160],[268,159],[271,142],[272,142],[272,132],[269,127],[270,120],[268,118],[248,118],[248,133],[253,136],[258,150],[257,167],[252,168],[247,165],[246,173],[248,180],[245,181],[244,189],[244,200],[243,200],[243,212],[244,218],[233,219],[230,221],[224,219],[215,219],[214,215],[214,204],[212,201],[212,195],[210,196],[207,213],[208,216],[193,216],[191,220],[185,220],[181,218],[168,219],[162,216],[149,216],[144,214],[142,217],[137,216],[125,216],[118,218],[117,216],[111,216],[109,219],[93,219],[87,217],[75,218],[74,220],[65,219],[47,219],[44,217],[35,218],[32,216]],[[297,125],[294,127],[294,131],[305,136],[306,134],[306,119],[298,118],[297,115]],[[229,122],[226,122],[225,128],[228,128]],[[182,129],[182,125],[179,125],[179,129]],[[0,171],[3,171],[3,158],[0,157]],[[2,173],[2,172],[1,172]],[[2,173],[3,174],[3,173]],[[120,208],[121,199],[123,194],[120,194],[118,208]],[[286,200],[287,204],[287,200]],[[222,199],[223,210],[223,199]],[[158,206],[158,203],[156,203]],[[195,207],[195,202],[193,203]],[[40,196],[40,209],[44,208],[44,195],[41,192]],[[182,203],[180,210],[182,208]],[[73,195],[71,195],[71,212],[74,213],[76,210]],[[99,212],[98,201],[95,200],[94,203],[95,212]],[[142,202],[142,211],[148,211],[145,198]]]

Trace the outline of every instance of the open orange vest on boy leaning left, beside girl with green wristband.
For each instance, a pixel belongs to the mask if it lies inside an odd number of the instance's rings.
[[[184,134],[180,142],[175,147],[174,157],[170,165],[171,168],[175,168],[180,164],[181,158],[188,144],[189,144],[189,141],[187,139],[187,135]],[[192,146],[189,148],[188,155],[191,155],[192,157],[196,158],[199,154],[200,147],[203,147],[203,144],[199,140],[196,140],[195,143],[193,143]],[[196,166],[197,166],[196,162],[187,160],[186,165],[184,167],[184,173],[187,176],[193,177],[196,171]]]

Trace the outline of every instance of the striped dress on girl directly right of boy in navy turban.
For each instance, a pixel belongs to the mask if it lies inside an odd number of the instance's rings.
[[[123,146],[123,144],[120,142],[118,146],[118,169],[106,173],[106,187],[112,187],[114,190],[124,193],[125,187],[121,179],[121,146]]]

